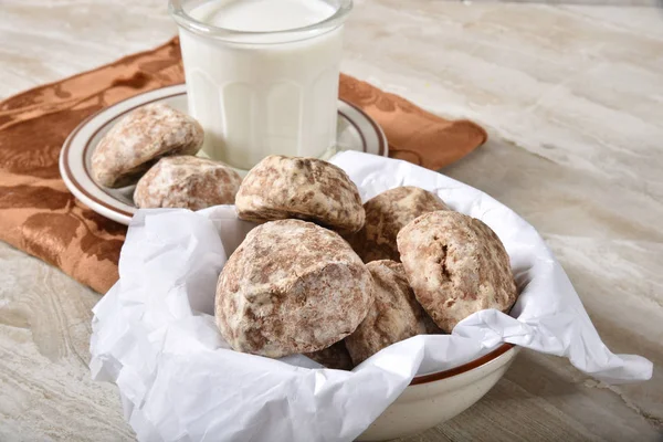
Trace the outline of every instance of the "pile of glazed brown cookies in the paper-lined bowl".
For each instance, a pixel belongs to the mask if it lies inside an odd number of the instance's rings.
[[[217,325],[238,351],[351,369],[409,337],[450,333],[474,312],[508,312],[517,297],[497,235],[423,189],[362,206],[340,168],[270,156],[235,206],[261,223],[217,285]]]

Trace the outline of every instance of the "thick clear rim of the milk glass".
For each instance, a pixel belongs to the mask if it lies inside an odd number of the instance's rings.
[[[327,17],[325,20],[320,20],[313,24],[307,24],[299,28],[291,28],[278,31],[240,31],[236,29],[228,29],[214,27],[199,20],[196,20],[185,11],[182,3],[186,0],[169,0],[168,11],[173,18],[175,22],[180,27],[193,33],[210,36],[213,39],[230,40],[234,41],[233,38],[261,38],[266,35],[282,35],[286,38],[288,34],[293,34],[293,40],[298,40],[302,33],[309,31],[318,31],[323,29],[333,29],[343,24],[347,18],[347,14],[352,10],[352,0],[338,0],[338,8],[336,12]],[[240,0],[241,1],[241,0]],[[241,41],[242,43],[263,43],[263,42],[249,42]],[[265,42],[266,43],[266,42]]]

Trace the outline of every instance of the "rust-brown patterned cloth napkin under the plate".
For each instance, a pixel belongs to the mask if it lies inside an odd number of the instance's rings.
[[[77,201],[60,178],[66,136],[95,112],[133,95],[182,83],[179,41],[23,92],[0,104],[0,240],[97,292],[117,281],[126,228]],[[368,83],[341,75],[340,97],[385,130],[390,156],[430,169],[486,140],[472,122],[450,122]]]

